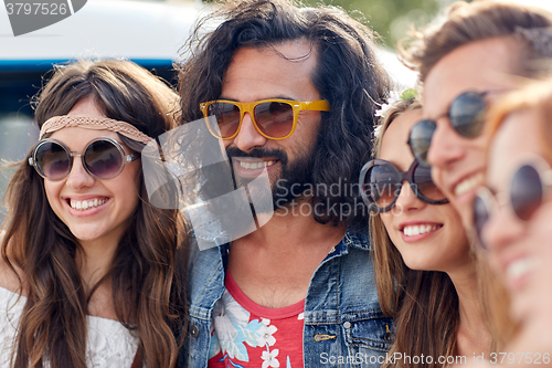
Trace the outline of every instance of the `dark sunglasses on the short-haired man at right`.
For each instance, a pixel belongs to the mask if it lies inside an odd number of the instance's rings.
[[[448,117],[450,125],[460,136],[465,138],[475,138],[481,134],[487,103],[485,95],[488,92],[469,91],[460,94],[450,103],[448,112],[443,116]],[[432,137],[437,127],[435,119],[423,119],[417,122],[408,136],[408,146],[414,157],[425,166],[427,162],[427,151],[432,145]]]

